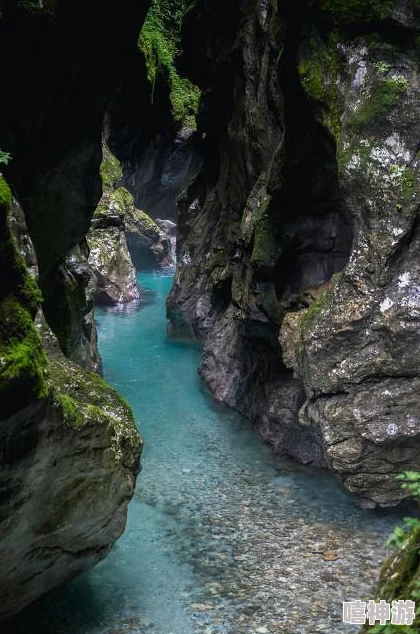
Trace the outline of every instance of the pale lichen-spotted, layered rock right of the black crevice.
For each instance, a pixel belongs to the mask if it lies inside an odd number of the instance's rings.
[[[407,7],[393,2],[392,15]],[[394,475],[420,468],[420,109],[409,30],[407,42],[340,35],[337,162],[357,237],[342,276],[302,318],[294,365],[308,395],[301,419],[320,427],[331,467],[367,505],[397,504],[406,492]]]

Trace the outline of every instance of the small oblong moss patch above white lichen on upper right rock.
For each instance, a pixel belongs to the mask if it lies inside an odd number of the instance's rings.
[[[406,91],[407,80],[404,77],[380,79],[369,97],[364,99],[349,120],[355,128],[381,123],[384,116],[398,103],[400,96]]]

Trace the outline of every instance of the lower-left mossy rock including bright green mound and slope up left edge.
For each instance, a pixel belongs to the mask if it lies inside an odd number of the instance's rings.
[[[2,619],[108,553],[124,530],[141,441],[127,404],[62,354],[6,222],[1,178],[0,188],[1,264],[15,271],[0,295]],[[13,212],[20,250],[34,262]]]

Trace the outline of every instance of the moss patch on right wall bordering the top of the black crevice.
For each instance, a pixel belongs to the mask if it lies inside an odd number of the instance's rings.
[[[302,86],[307,95],[323,107],[322,121],[338,139],[341,130],[341,111],[338,103],[337,78],[340,59],[337,51],[338,34],[333,31],[328,42],[311,38],[309,50],[298,66]]]

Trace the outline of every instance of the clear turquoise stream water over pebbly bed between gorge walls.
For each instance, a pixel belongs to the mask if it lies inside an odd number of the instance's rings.
[[[274,458],[216,406],[197,376],[199,348],[166,336],[170,275],[139,282],[140,307],[97,310],[105,377],[145,440],[126,532],[105,561],[2,631],[351,631],[341,601],[373,598],[397,514],[361,511],[328,474]]]

